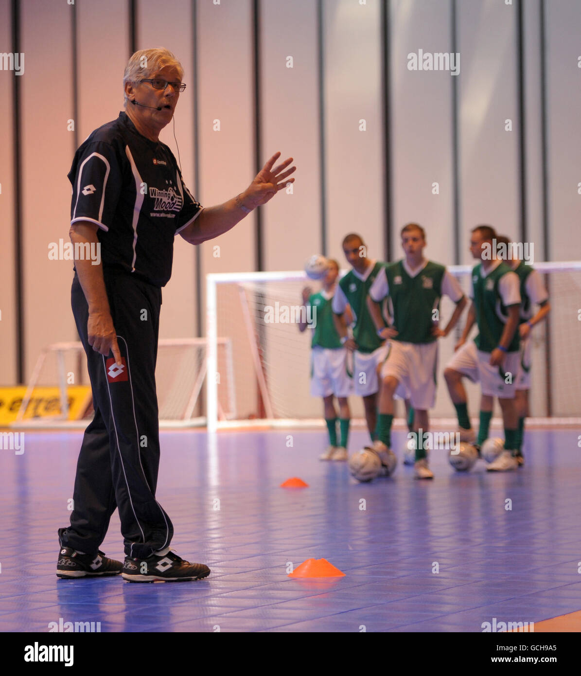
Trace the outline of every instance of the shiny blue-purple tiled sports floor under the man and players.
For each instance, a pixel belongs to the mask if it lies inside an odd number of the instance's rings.
[[[55,577],[81,433],[26,432],[24,454],[0,452],[0,631],[48,631],[62,618],[101,631],[478,632],[492,618],[578,611],[577,434],[529,429],[526,466],[511,473],[479,461],[457,474],[440,451],[432,482],[399,464],[392,478],[359,484],[345,463],[318,461],[323,431],[220,433],[213,453],[203,431],[162,432],[157,499],[174,522],[172,547],[212,573],[131,584]],[[395,450],[403,439],[394,433]],[[365,441],[353,431],[351,452]],[[309,487],[279,487],[295,476]],[[102,549],[123,560],[117,514]],[[345,577],[287,577],[308,558]]]

